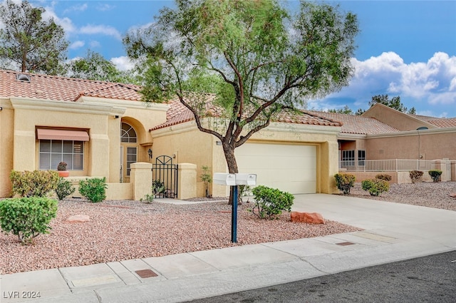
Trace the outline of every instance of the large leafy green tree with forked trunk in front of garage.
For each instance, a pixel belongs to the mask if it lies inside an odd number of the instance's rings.
[[[177,96],[222,142],[229,173],[238,172],[234,149],[278,113],[338,91],[352,74],[356,15],[304,1],[290,13],[281,3],[177,0],[123,39],[140,61],[144,101]],[[214,115],[226,123],[207,123]]]

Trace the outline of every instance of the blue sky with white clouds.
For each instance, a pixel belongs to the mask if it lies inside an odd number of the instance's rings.
[[[152,23],[162,7],[173,6],[166,0],[29,2],[63,26],[70,41],[68,58],[84,57],[90,49],[122,70],[133,67],[122,43],[125,33]],[[366,110],[372,96],[388,94],[400,96],[419,115],[456,117],[456,0],[326,2],[358,16],[355,72],[348,86],[309,101],[309,109]],[[296,1],[288,5],[293,8]]]

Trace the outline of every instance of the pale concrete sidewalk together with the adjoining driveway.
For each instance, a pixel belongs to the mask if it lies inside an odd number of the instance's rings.
[[[323,194],[296,195],[293,209],[364,230],[4,274],[1,302],[184,302],[456,250],[450,210]]]

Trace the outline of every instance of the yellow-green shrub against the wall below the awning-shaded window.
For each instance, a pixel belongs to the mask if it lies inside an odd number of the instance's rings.
[[[52,170],[33,170],[33,172],[11,171],[9,178],[12,183],[13,195],[21,197],[46,197],[56,190],[58,173]]]

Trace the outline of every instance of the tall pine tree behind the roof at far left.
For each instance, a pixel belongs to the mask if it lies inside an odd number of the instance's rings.
[[[33,8],[28,1],[19,4],[6,0],[0,6],[0,58],[13,61],[21,71],[61,73],[68,41],[53,19],[42,20],[45,10]]]

